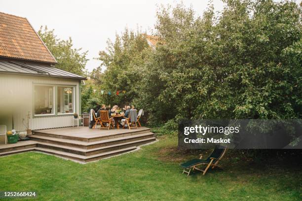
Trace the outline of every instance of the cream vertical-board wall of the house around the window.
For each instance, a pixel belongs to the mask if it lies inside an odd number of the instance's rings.
[[[13,123],[14,129],[16,131],[22,131],[26,129],[23,125],[22,119],[26,118],[28,111],[30,111],[32,117],[30,119],[30,128],[32,130],[72,126],[73,115],[71,114],[60,116],[57,115],[33,117],[34,84],[74,85],[76,94],[75,112],[79,113],[79,83],[79,80],[71,78],[53,78],[47,76],[28,76],[0,73],[0,110],[4,110],[5,107],[9,107],[5,106],[6,104],[10,106],[12,105],[12,108],[10,110],[15,110],[13,112]],[[7,123],[3,123],[7,124],[8,129],[10,130],[11,128],[9,128],[9,121],[11,122],[11,120],[8,120]],[[0,124],[3,123],[0,122]]]

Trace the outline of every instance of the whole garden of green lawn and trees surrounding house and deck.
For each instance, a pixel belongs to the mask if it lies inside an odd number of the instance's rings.
[[[155,47],[145,32],[125,28],[92,72],[86,52],[41,27],[57,67],[89,77],[80,86],[82,112],[135,105],[158,141],[87,164],[37,152],[1,157],[0,190],[37,191],[43,201],[300,201],[302,149],[228,149],[223,169],[182,174],[181,163],[212,150],[179,149],[181,119],[302,118],[301,4],[224,2],[221,12],[211,3],[204,13],[159,6]]]

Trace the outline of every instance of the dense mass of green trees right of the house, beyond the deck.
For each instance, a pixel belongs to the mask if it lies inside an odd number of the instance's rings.
[[[299,5],[288,0],[224,2],[221,13],[210,4],[197,17],[183,4],[160,7],[154,35],[162,42],[155,50],[147,48],[143,34],[128,30],[109,41],[99,58],[107,69],[98,71],[96,82],[105,90],[128,93],[102,101],[144,108],[150,125],[176,115],[301,118]]]

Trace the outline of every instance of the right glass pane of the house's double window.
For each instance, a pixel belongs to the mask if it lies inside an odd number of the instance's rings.
[[[58,87],[58,113],[74,113],[74,87]]]

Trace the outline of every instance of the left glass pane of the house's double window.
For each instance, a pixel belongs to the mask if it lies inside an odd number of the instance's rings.
[[[54,87],[53,86],[35,86],[34,91],[34,104],[35,104],[35,115],[38,114],[54,114],[53,97]]]

